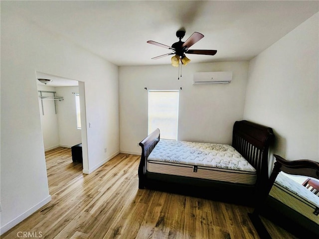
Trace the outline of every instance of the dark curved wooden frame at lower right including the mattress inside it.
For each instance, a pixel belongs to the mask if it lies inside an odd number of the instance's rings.
[[[271,239],[260,215],[298,238],[319,238],[319,197],[282,174],[307,176],[319,180],[319,163],[311,160],[288,161],[274,155],[276,162],[261,198],[248,214],[262,239]]]

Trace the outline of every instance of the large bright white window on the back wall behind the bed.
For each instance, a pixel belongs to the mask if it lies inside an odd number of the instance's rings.
[[[177,140],[179,91],[149,91],[149,134],[160,129],[160,138]]]

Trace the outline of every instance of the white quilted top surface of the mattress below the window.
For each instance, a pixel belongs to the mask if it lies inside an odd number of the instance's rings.
[[[232,146],[161,139],[148,161],[197,165],[256,173],[248,161]]]

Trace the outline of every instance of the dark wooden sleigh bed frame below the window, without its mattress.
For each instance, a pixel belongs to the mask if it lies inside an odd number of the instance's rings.
[[[156,129],[139,144],[142,147],[139,166],[139,188],[156,189],[222,200],[224,202],[251,205],[255,202],[258,189],[265,186],[268,181],[268,150],[273,140],[274,133],[272,128],[247,120],[236,121],[234,123],[232,146],[257,171],[256,184],[244,185],[148,172],[148,157],[160,141],[160,130]]]

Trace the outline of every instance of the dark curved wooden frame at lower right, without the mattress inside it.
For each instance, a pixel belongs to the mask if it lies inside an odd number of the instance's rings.
[[[248,214],[254,227],[262,239],[271,239],[271,236],[259,217],[261,215],[298,238],[319,238],[318,224],[279,200],[268,196],[281,171],[287,174],[319,179],[319,163],[305,159],[288,161],[279,155],[274,156],[276,162],[268,180],[267,187],[265,187],[264,192],[260,194],[261,198],[259,199],[259,203],[256,205],[254,212]],[[314,212],[314,214],[318,215],[317,212]]]

